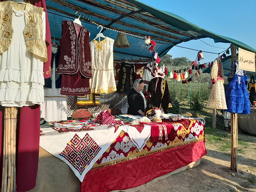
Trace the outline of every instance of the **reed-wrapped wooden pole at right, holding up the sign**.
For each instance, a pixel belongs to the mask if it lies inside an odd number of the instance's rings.
[[[236,46],[231,44],[231,61],[236,61]],[[231,114],[231,162],[230,168],[232,171],[238,172],[237,167],[237,148],[238,148],[238,125],[237,113]]]

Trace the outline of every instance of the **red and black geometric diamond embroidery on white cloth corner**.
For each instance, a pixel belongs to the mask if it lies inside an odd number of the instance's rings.
[[[82,175],[101,148],[88,133],[81,139],[77,134],[67,143],[66,148],[59,154],[64,157]]]

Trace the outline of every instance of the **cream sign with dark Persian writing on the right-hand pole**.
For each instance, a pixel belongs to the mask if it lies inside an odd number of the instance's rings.
[[[238,64],[241,70],[255,72],[255,53],[239,48]]]

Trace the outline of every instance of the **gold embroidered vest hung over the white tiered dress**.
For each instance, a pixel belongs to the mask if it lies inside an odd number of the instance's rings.
[[[38,55],[43,62],[48,60],[47,47],[43,40],[42,14],[44,9],[26,3],[26,6],[11,1],[0,2],[0,53],[5,52],[12,42],[13,6],[18,11],[25,10],[25,29],[23,35],[28,51]],[[25,7],[25,9],[24,9]]]

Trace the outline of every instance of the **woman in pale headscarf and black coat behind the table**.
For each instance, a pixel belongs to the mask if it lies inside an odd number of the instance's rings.
[[[146,99],[142,90],[144,89],[144,81],[142,79],[136,79],[134,81],[133,88],[128,94],[128,112],[129,115],[144,115],[146,108]]]

